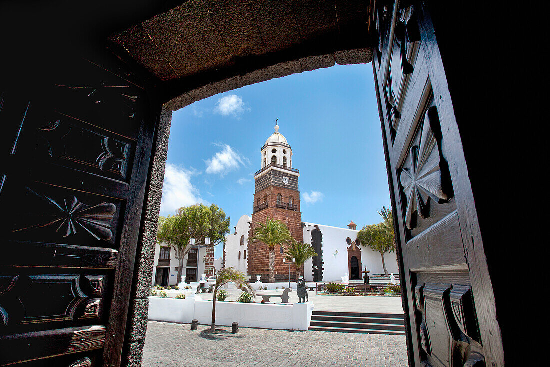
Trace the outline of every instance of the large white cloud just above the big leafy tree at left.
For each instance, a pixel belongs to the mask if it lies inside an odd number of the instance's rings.
[[[199,190],[191,183],[191,177],[196,171],[186,170],[175,164],[166,163],[164,171],[164,186],[162,187],[161,214],[175,214],[181,207],[197,203],[209,204],[201,196]]]

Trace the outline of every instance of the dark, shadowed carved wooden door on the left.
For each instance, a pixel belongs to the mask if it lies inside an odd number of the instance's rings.
[[[2,92],[0,365],[120,365],[160,112],[130,78],[77,60]]]

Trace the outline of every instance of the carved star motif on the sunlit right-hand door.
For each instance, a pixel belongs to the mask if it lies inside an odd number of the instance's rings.
[[[430,107],[432,112],[436,107]],[[425,114],[420,142],[412,145],[408,159],[401,171],[401,185],[407,198],[405,211],[405,225],[415,228],[414,215],[420,218],[430,216],[430,200],[437,203],[449,199],[443,189],[441,173],[441,157],[439,156],[438,142],[430,125],[430,112]]]

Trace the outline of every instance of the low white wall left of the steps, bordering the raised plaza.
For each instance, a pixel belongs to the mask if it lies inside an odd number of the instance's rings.
[[[212,323],[212,301],[199,296],[186,299],[149,298],[149,320],[191,323]],[[314,305],[312,303],[270,305],[260,303],[216,302],[216,325],[257,327],[278,330],[307,330]]]

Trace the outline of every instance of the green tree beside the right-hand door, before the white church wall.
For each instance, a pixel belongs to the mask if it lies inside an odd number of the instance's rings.
[[[380,212],[379,212],[380,213]],[[357,238],[361,241],[361,245],[369,246],[372,250],[378,251],[382,256],[382,266],[384,273],[389,275],[386,269],[386,261],[384,261],[384,253],[395,251],[395,234],[393,230],[393,214],[391,209],[383,207],[382,218],[384,222],[379,224],[371,224],[364,226],[357,234]]]

